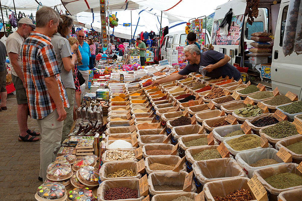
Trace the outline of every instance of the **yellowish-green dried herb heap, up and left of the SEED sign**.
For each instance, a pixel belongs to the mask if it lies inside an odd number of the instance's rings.
[[[260,146],[260,137],[256,135],[243,135],[227,142],[235,151],[253,149]]]

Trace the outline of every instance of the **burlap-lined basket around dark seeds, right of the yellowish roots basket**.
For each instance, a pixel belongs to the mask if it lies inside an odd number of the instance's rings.
[[[184,185],[185,177],[189,174],[186,171],[165,171],[165,172],[153,172],[148,176],[148,186],[151,195],[160,193],[178,193],[185,192],[183,190],[155,190],[156,185]],[[191,192],[196,192],[196,186],[194,183],[191,185]]]

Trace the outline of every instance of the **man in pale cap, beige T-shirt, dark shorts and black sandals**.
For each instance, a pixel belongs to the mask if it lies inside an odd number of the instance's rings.
[[[19,55],[19,50],[24,40],[36,28],[33,21],[28,17],[23,17],[18,22],[18,29],[8,36],[6,39],[6,52],[9,58],[9,65],[11,67],[11,79],[16,89],[16,98],[18,103],[17,120],[19,124],[20,136],[19,141],[35,142],[39,138],[36,136],[40,133],[29,130],[27,127],[28,118],[28,104],[25,90],[25,81],[23,74],[23,64]]]

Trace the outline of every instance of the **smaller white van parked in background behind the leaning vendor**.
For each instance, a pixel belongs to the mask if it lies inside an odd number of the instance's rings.
[[[160,56],[162,60],[167,59],[170,62],[170,58],[172,57],[172,52],[175,50],[175,47],[178,46],[186,46],[187,34],[185,30],[183,31],[175,31],[172,33],[168,33],[162,42],[162,48],[160,49]],[[205,34],[205,44],[209,43],[210,34],[206,31]],[[200,46],[202,46],[200,44]]]

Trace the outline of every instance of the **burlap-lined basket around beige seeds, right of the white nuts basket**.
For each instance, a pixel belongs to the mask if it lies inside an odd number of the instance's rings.
[[[145,170],[147,174],[150,174],[152,172],[165,172],[165,171],[172,171],[172,170],[151,170],[149,165],[153,163],[160,163],[163,165],[171,165],[171,164],[177,164],[177,162],[181,158],[177,155],[153,155],[148,156],[145,158]],[[184,163],[182,167],[180,167],[180,171],[186,171],[186,164]]]

